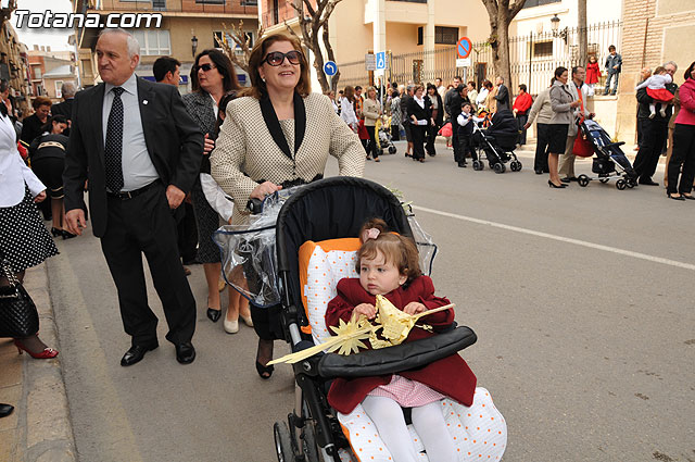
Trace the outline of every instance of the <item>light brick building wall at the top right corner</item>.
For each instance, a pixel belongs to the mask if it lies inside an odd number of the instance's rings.
[[[640,70],[674,61],[683,72],[695,61],[695,1],[693,0],[622,0],[623,36],[618,52],[622,54],[622,73],[618,92],[617,135],[626,141],[636,139],[636,100],[634,87]]]

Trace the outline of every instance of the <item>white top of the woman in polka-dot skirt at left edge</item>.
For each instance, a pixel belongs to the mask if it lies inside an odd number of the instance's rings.
[[[36,197],[46,186],[26,166],[17,151],[16,132],[9,116],[0,114],[0,207],[12,207],[24,199],[24,185]]]

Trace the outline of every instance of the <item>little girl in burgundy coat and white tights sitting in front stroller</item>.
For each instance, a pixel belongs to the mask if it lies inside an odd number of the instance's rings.
[[[326,311],[326,324],[336,326],[353,316],[376,316],[376,296],[386,297],[407,314],[418,314],[450,303],[434,296],[432,280],[421,274],[417,248],[412,239],[388,233],[381,220],[367,222],[361,233],[357,252],[359,278],[338,283],[338,296]],[[414,327],[407,341],[437,335],[454,322],[454,310],[421,319],[434,333]],[[412,408],[413,426],[421,438],[430,461],[455,462],[456,449],[446,429],[440,400],[450,397],[464,405],[472,404],[476,376],[458,354],[434,361],[418,370],[362,378],[337,378],[328,402],[349,414],[362,403],[374,421],[395,462],[415,462],[413,446],[402,408]]]

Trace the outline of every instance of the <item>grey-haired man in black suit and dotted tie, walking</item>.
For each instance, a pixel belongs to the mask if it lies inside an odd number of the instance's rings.
[[[67,227],[86,226],[83,185],[89,178],[94,236],[118,291],[131,347],[121,365],[155,349],[154,315],[147,300],[142,253],[169,327],[176,359],[195,359],[195,300],[176,245],[177,209],[200,170],[203,135],[176,88],[137,78],[137,40],[123,29],[104,29],[97,42],[104,80],[75,97],[63,180]]]

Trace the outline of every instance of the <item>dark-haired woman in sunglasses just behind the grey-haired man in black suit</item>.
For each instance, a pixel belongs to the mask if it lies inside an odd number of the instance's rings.
[[[217,137],[217,104],[225,93],[237,91],[239,84],[229,58],[215,49],[204,50],[195,57],[191,70],[191,84],[193,91],[184,95],[184,103],[191,117],[198,122],[201,132],[205,134],[200,173],[210,174],[210,151]],[[193,185],[191,198],[198,225],[198,261],[203,264],[207,283],[207,317],[216,323],[222,315],[218,289],[222,260],[212,237],[219,227],[219,216],[207,202],[200,180]],[[252,324],[249,309],[245,303],[241,303],[239,294],[230,287],[227,313],[223,322],[225,332],[236,334],[239,330],[239,316],[248,325]]]

